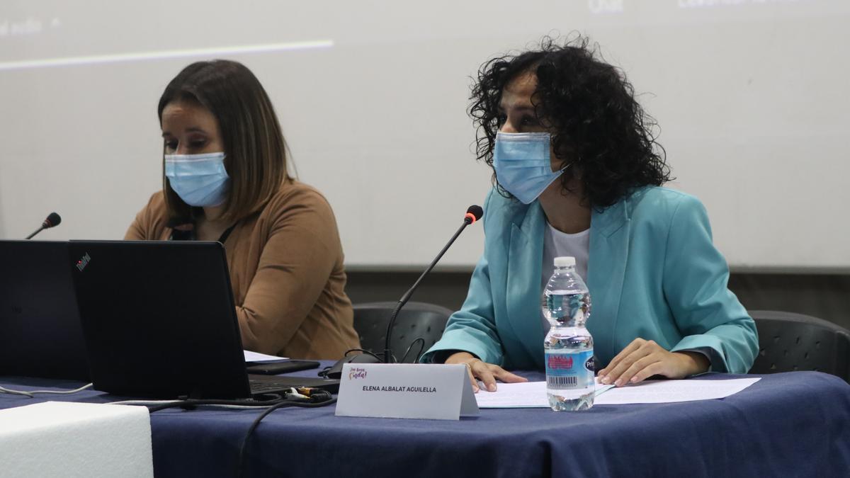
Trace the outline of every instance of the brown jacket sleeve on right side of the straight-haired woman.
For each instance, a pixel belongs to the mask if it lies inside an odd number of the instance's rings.
[[[242,344],[275,355],[286,347],[326,287],[340,259],[336,219],[316,193],[302,192],[270,218],[269,239],[242,304]]]

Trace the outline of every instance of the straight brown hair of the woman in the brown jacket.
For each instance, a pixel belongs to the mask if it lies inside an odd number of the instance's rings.
[[[245,65],[229,60],[198,61],[168,83],[159,101],[162,110],[173,101],[195,100],[218,120],[224,143],[224,168],[230,189],[221,219],[235,223],[256,213],[280,189],[286,173],[286,142],[275,108],[263,85]],[[168,184],[163,145],[162,190],[170,218],[190,222],[192,208]]]

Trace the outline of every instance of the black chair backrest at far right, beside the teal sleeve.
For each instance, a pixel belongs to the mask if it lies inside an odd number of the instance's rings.
[[[832,322],[776,310],[751,310],[758,356],[750,373],[813,370],[850,383],[850,331]]]

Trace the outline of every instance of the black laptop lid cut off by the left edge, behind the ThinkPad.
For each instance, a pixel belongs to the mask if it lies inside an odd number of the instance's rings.
[[[0,241],[0,375],[88,383],[68,243]]]

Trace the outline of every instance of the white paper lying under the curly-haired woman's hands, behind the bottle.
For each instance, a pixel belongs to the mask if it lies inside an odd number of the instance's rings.
[[[671,403],[674,401],[712,400],[734,395],[755,384],[759,378],[727,380],[646,380],[637,385],[612,387],[597,385],[594,405],[627,405],[631,403]],[[475,394],[480,408],[549,407],[546,382],[498,384],[495,392],[481,390]]]

